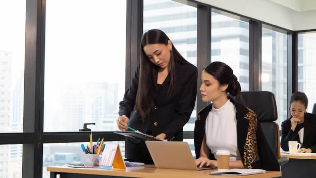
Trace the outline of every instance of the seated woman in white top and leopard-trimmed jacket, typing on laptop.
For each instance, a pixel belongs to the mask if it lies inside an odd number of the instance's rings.
[[[230,168],[279,171],[256,114],[232,98],[240,93],[233,70],[223,62],[210,63],[201,74],[203,102],[212,102],[197,114],[194,146],[197,166],[217,167],[216,152],[229,150]]]

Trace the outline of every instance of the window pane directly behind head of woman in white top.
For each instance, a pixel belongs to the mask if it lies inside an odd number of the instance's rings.
[[[213,9],[211,61],[229,65],[237,76],[241,91],[249,91],[249,22]]]

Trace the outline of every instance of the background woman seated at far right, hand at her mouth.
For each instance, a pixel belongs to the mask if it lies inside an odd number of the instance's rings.
[[[316,152],[316,115],[307,113],[307,96],[295,92],[290,100],[291,117],[282,122],[281,148],[289,151],[289,141],[301,144],[299,153]]]

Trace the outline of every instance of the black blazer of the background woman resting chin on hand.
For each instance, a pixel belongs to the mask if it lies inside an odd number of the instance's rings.
[[[281,148],[289,151],[289,141],[297,141],[301,148],[310,148],[316,152],[316,114],[304,113],[304,138],[303,143],[299,141],[298,132],[291,130],[291,118],[282,122]]]

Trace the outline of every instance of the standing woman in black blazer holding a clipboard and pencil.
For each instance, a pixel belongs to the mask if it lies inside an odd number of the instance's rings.
[[[197,68],[161,30],[144,33],[140,49],[140,64],[120,102],[118,127],[128,130],[128,125],[159,139],[182,141],[182,128],[195,105]],[[144,141],[126,138],[125,150],[128,160],[153,164]]]

